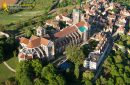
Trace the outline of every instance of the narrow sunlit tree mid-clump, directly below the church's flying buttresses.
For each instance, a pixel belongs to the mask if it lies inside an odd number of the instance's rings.
[[[32,60],[31,65],[32,65],[33,71],[36,74],[36,76],[39,76],[41,74],[41,71],[42,71],[41,62],[38,59]]]

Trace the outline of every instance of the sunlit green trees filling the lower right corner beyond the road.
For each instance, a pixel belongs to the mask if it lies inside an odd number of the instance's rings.
[[[127,47],[129,44],[129,36],[121,35],[117,43]],[[123,49],[118,48],[112,50],[111,54],[103,64],[103,71],[99,79],[96,80],[97,85],[129,85],[130,84],[130,54]]]

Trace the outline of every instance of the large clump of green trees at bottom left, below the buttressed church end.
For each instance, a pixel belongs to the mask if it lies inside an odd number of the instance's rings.
[[[65,79],[52,64],[43,67],[41,61],[20,62],[16,69],[18,85],[65,85]]]

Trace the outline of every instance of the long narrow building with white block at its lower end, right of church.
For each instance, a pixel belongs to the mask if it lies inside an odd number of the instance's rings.
[[[86,69],[96,70],[101,63],[101,59],[105,50],[107,49],[106,46],[108,45],[108,36],[107,34],[100,32],[98,35],[95,35],[95,40],[98,40],[99,43],[96,46],[93,52],[89,53],[88,58],[84,60],[83,66]]]

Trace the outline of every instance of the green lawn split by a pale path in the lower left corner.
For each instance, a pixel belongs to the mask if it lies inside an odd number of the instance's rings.
[[[12,57],[11,59],[7,60],[6,63],[13,69],[16,69],[18,58]],[[5,81],[13,76],[15,76],[14,72],[10,71],[3,63],[0,64],[0,82]]]

